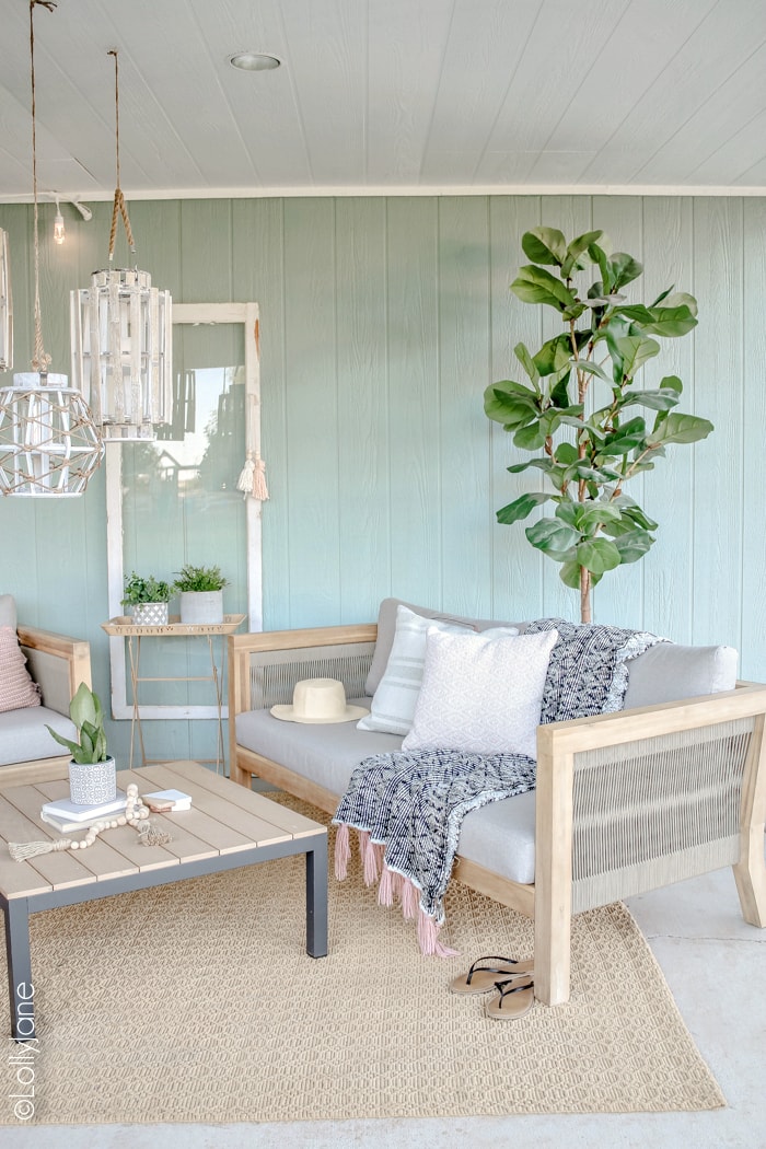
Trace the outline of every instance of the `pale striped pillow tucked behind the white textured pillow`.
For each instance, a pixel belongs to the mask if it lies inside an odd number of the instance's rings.
[[[359,730],[378,730],[388,734],[408,733],[412,726],[412,716],[423,681],[426,637],[430,630],[443,634],[474,633],[457,623],[424,618],[400,603],[396,608],[396,631],[386,670],[372,697],[370,714],[357,723]],[[495,627],[485,631],[483,634],[510,637],[518,634],[518,631],[513,627]]]

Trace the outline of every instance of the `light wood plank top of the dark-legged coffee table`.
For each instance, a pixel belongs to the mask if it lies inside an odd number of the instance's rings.
[[[14,861],[7,843],[54,840],[61,835],[39,818],[44,802],[65,797],[65,780],[40,781],[0,792],[0,890],[7,899],[84,886],[141,871],[172,867],[254,846],[300,839],[324,827],[260,794],[222,778],[198,763],[180,762],[119,771],[119,789],[134,781],[139,793],[175,787],[192,796],[192,809],[152,815],[172,841],[141,846],[130,826],[109,830],[85,850],[63,850]],[[76,834],[79,838],[82,835]]]

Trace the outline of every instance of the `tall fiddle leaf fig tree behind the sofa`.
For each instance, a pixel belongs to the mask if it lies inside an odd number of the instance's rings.
[[[520,495],[497,511],[497,520],[517,523],[555,504],[526,537],[560,564],[563,581],[580,592],[581,620],[589,623],[591,588],[655,542],[658,524],[626,494],[628,480],[652,470],[671,444],[696,442],[713,430],[707,419],[675,410],[678,376],[652,387],[640,381],[641,369],[660,352],[658,338],[678,339],[697,325],[697,301],[670,287],[648,306],[628,302],[624,288],[643,268],[624,252],[609,254],[602,231],[567,244],[556,228],[534,228],[521,247],[532,262],[519,269],[511,291],[557,311],[563,331],[534,354],[517,344],[526,378],[487,387],[485,411],[516,447],[535,454],[508,470],[542,471],[551,489]],[[588,268],[597,278],[583,292],[579,273]]]

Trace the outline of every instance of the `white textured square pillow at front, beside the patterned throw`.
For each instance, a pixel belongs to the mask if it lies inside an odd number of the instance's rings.
[[[423,686],[403,750],[537,756],[537,725],[558,631],[488,638],[428,630]]]

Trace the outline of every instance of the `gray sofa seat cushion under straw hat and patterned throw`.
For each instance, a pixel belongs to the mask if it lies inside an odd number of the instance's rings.
[[[354,701],[370,705],[371,700]],[[324,726],[278,722],[268,710],[238,715],[235,726],[239,746],[323,786],[339,801],[362,758],[390,754],[402,746],[399,734],[357,730],[350,722]],[[527,885],[534,881],[534,793],[519,794],[467,813],[459,853],[493,873]]]

